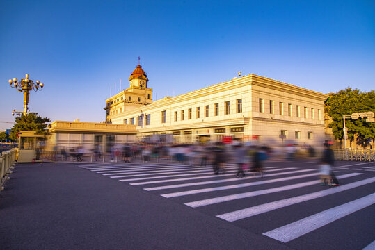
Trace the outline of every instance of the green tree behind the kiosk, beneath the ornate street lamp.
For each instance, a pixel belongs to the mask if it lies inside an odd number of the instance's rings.
[[[42,118],[38,113],[22,114],[15,118],[15,126],[10,131],[10,139],[17,141],[17,133],[19,131],[36,131],[37,134],[47,134],[47,122],[51,122],[49,118]]]

